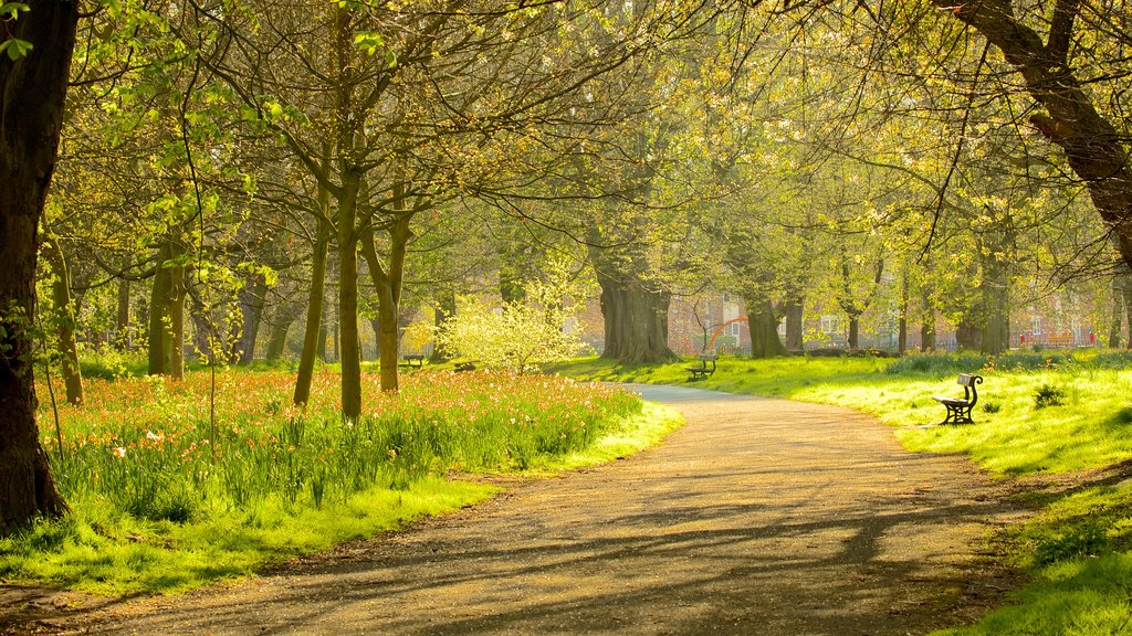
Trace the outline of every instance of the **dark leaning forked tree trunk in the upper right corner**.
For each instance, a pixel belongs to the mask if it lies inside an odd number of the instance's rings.
[[[1046,114],[1030,122],[1065,151],[1073,172],[1089,189],[1094,206],[1113,229],[1124,261],[1132,266],[1132,166],[1120,132],[1097,112],[1073,75],[1069,50],[1081,5],[1058,1],[1049,19],[1048,41],[1022,24],[1010,0],[936,5],[970,25],[994,44],[1021,74],[1030,96]]]

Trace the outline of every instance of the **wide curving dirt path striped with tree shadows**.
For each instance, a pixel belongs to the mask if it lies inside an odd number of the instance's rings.
[[[688,424],[635,457],[286,571],[82,610],[70,634],[904,635],[985,609],[1010,512],[868,416],[641,387]]]

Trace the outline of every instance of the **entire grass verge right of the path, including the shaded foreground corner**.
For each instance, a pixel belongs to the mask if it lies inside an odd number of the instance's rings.
[[[894,427],[911,450],[963,453],[1002,479],[1061,484],[1027,491],[1040,512],[989,539],[1031,583],[976,625],[938,634],[1132,634],[1132,354],[724,358],[698,381],[687,366],[591,358],[552,370],[848,406]],[[961,372],[985,378],[975,423],[937,426],[944,410],[932,396],[961,396]]]

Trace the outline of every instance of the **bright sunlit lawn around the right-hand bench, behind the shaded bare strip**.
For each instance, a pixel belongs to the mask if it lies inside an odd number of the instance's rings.
[[[1124,368],[1113,361],[1123,360]],[[706,380],[688,381],[687,361],[623,367],[586,358],[555,372],[609,381],[670,384],[849,406],[897,427],[911,450],[964,453],[994,474],[1065,473],[1132,459],[1132,356],[1077,354],[1072,362],[1034,354],[875,358],[724,358]],[[962,396],[959,372],[978,372],[972,426],[935,427],[933,395]],[[1043,387],[1064,392],[1061,406],[1038,407]]]

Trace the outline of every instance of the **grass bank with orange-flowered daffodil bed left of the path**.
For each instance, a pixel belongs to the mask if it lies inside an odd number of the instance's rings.
[[[337,413],[320,372],[306,409],[283,371],[87,384],[50,405],[42,444],[74,513],[0,539],[0,581],[98,593],[175,592],[489,497],[460,473],[547,473],[608,461],[679,426],[636,396],[552,377],[366,376],[369,412]],[[211,418],[215,407],[216,418]]]

